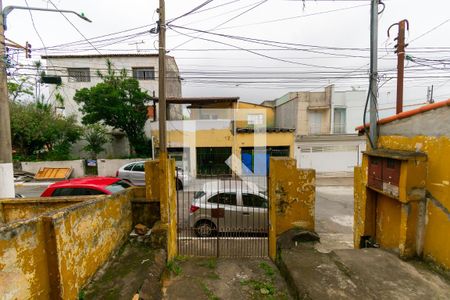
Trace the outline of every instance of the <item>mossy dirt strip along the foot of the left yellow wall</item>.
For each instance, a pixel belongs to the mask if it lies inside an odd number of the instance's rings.
[[[131,299],[151,273],[154,257],[147,244],[127,241],[80,292],[80,299]]]

